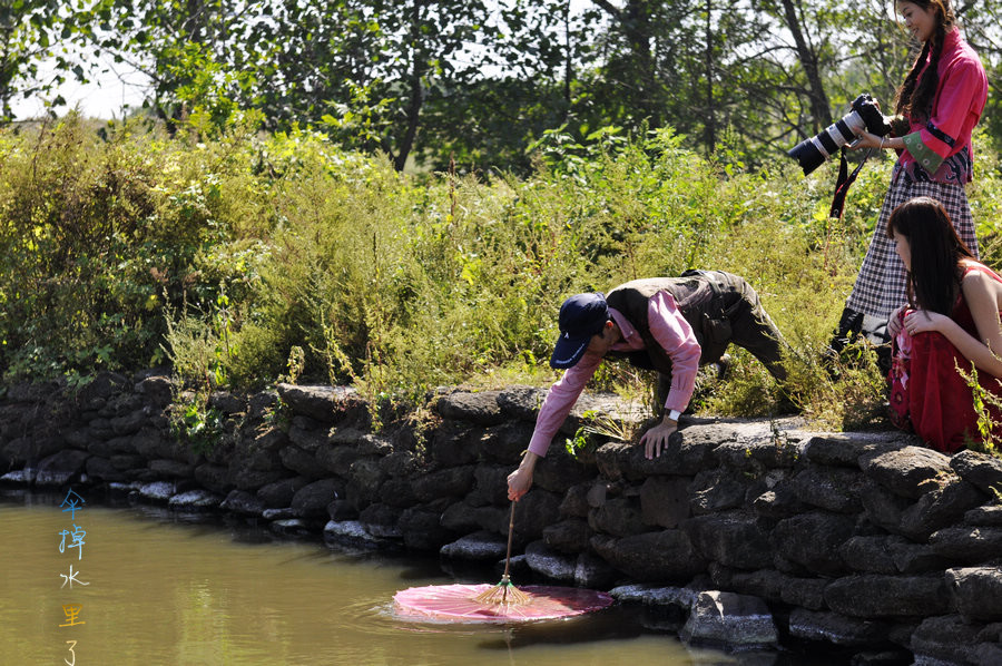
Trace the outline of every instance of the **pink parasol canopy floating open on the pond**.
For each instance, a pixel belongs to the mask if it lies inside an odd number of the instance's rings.
[[[612,604],[606,592],[576,587],[527,586],[527,604],[483,604],[474,597],[491,585],[430,585],[401,590],[393,596],[397,615],[415,620],[512,623],[559,619],[600,610]]]

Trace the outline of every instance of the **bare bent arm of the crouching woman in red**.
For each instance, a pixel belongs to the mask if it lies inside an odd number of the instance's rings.
[[[949,316],[927,310],[908,314],[905,317],[905,330],[910,335],[926,331],[942,333],[978,370],[1002,378],[1002,360],[992,354],[992,351],[1002,354],[1002,323],[999,321],[999,301],[995,295],[998,287],[992,282],[994,281],[983,273],[973,272],[961,283],[980,340]]]

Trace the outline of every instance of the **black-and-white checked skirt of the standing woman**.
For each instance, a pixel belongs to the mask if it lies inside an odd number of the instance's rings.
[[[963,185],[929,180],[908,182],[905,174],[898,174],[897,169],[894,176],[887,196],[884,197],[881,217],[866,251],[866,258],[863,259],[863,267],[859,268],[853,293],[845,304],[849,310],[882,320],[886,320],[894,310],[907,302],[904,265],[894,249],[894,242],[887,237],[887,219],[898,205],[916,196],[937,199],[946,208],[957,235],[967,245],[967,249],[978,256],[974,221],[971,218],[971,207],[967,205],[967,194]]]

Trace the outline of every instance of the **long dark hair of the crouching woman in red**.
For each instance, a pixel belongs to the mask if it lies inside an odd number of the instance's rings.
[[[906,200],[887,221],[887,237],[895,234],[907,238],[912,251],[908,304],[950,316],[960,294],[961,261],[974,255],[956,235],[943,204],[927,196]]]

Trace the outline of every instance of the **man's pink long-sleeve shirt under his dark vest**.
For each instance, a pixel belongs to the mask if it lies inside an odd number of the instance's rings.
[[[615,352],[635,352],[647,347],[637,329],[615,307],[609,308],[612,321],[619,326],[622,340],[612,345]],[[651,336],[671,359],[671,389],[665,400],[666,410],[685,411],[696,386],[696,371],[703,350],[689,322],[678,311],[675,297],[668,292],[658,292],[647,303],[647,325]],[[536,420],[536,430],[529,442],[529,451],[546,456],[553,435],[560,430],[571,408],[584,390],[584,384],[598,370],[602,358],[586,352],[581,360],[568,368],[547,393]]]

